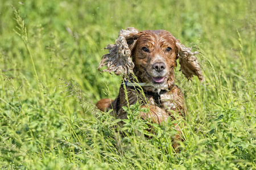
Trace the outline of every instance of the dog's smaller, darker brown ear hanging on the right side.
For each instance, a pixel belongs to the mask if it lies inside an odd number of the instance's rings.
[[[204,75],[201,71],[199,61],[197,61],[195,54],[198,52],[191,52],[191,48],[185,47],[178,39],[175,42],[177,48],[177,58],[179,58],[180,70],[188,80],[191,80],[193,75],[198,76],[201,82],[204,81]]]

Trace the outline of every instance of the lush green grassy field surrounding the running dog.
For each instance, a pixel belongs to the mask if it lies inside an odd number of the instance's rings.
[[[255,16],[254,0],[1,2],[0,168],[256,169]],[[176,69],[188,108],[179,152],[172,122],[144,138],[139,104],[125,129],[94,107],[118,94],[121,77],[97,67],[127,27],[166,29],[201,52],[204,83]]]

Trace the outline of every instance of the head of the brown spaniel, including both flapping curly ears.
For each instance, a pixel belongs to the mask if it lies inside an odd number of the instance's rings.
[[[114,45],[108,45],[109,54],[102,56],[99,68],[108,66],[109,73],[131,75],[134,73],[139,82],[153,88],[167,89],[174,84],[174,69],[179,58],[182,73],[188,79],[193,75],[203,82],[204,77],[199,62],[191,52],[170,32],[147,30],[139,32],[129,27],[121,30]]]

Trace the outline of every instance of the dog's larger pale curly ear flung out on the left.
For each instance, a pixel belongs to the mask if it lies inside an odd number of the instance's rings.
[[[100,69],[107,66],[109,73],[114,72],[116,75],[127,75],[133,73],[134,63],[131,59],[131,50],[133,50],[139,37],[139,31],[136,28],[129,27],[126,30],[121,29],[115,44],[109,44],[105,49],[109,50],[109,54],[105,54],[101,58]]]

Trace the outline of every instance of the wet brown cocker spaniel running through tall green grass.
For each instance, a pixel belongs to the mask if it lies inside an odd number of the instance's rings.
[[[127,106],[127,91],[130,105],[139,100],[141,108],[148,108],[146,113],[141,111],[141,118],[161,124],[168,117],[174,119],[174,113],[178,115],[176,118],[185,116],[183,94],[174,84],[174,70],[179,59],[180,70],[187,79],[196,75],[203,82],[199,62],[193,56],[197,52],[191,52],[191,48],[185,47],[168,31],[139,32],[133,27],[122,29],[115,44],[109,44],[105,49],[109,54],[102,56],[99,69],[107,66],[103,72],[122,75],[125,83],[121,84],[115,100],[98,101],[98,109],[103,112],[113,109],[115,118],[127,118],[122,108]]]

